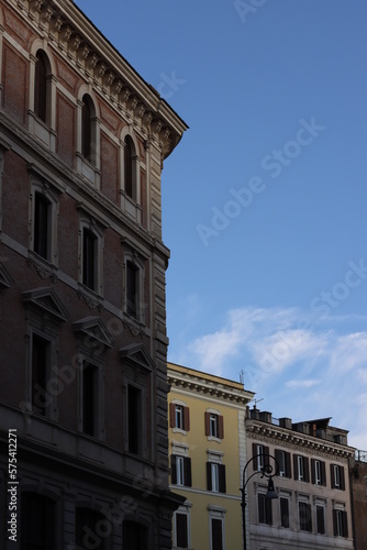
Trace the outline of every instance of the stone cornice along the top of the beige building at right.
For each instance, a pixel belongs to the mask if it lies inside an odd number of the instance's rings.
[[[270,444],[279,442],[281,447],[298,451],[301,450],[302,452],[311,454],[329,457],[332,454],[343,459],[349,459],[355,454],[355,449],[352,447],[334,443],[326,439],[315,438],[257,420],[246,420],[246,436],[248,439],[264,441]]]

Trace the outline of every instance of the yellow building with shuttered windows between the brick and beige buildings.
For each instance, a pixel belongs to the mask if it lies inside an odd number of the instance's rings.
[[[171,363],[168,382],[170,488],[185,498],[173,519],[173,549],[241,548],[245,416],[254,394]]]

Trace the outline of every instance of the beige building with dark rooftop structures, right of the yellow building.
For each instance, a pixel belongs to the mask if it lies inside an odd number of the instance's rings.
[[[355,449],[347,431],[331,427],[330,418],[293,424],[254,407],[246,444],[247,550],[353,548],[348,461]],[[275,499],[265,497],[267,463],[269,473],[278,470]]]

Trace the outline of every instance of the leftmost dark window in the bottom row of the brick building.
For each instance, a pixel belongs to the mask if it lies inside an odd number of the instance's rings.
[[[21,550],[55,548],[54,502],[35,493],[23,493],[21,509]]]

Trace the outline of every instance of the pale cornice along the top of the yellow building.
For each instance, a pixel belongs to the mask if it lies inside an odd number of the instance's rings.
[[[234,385],[231,386],[231,384],[226,385],[224,381],[221,383],[205,378],[204,373],[202,373],[202,376],[179,373],[170,370],[168,365],[167,374],[168,383],[171,388],[181,389],[188,393],[210,396],[219,400],[226,400],[242,406],[247,405],[254,396],[252,392],[236,388]]]

